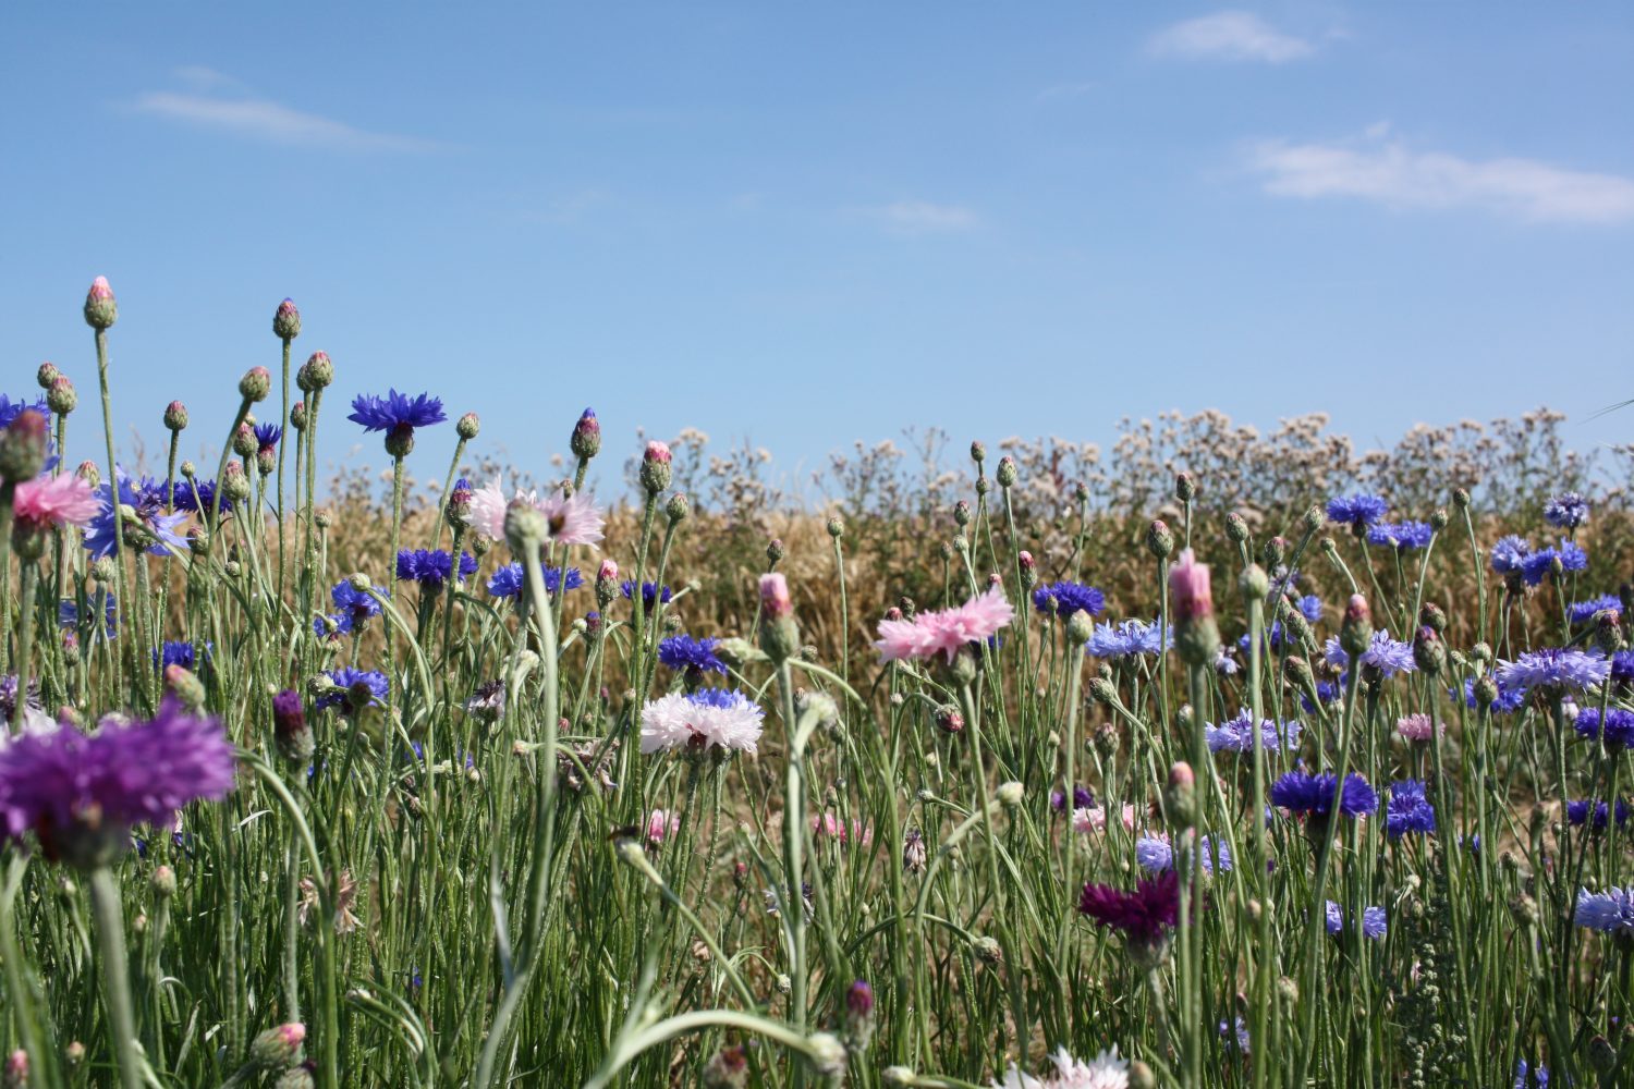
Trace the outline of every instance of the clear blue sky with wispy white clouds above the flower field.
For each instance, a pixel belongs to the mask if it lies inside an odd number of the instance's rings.
[[[585,405],[786,470],[1167,408],[1629,438],[1626,3],[338,7],[8,10],[8,392],[56,361],[90,433],[106,274],[121,429],[180,397],[191,454],[284,296],[342,397],[541,475]]]

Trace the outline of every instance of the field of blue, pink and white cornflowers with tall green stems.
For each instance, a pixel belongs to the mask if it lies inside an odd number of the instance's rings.
[[[1627,447],[513,473],[289,300],[111,405],[116,315],[0,398],[0,1084],[1634,1084]]]

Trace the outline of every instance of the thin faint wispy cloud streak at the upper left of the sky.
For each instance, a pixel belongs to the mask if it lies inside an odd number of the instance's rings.
[[[131,109],[167,121],[292,147],[335,147],[355,152],[428,152],[443,147],[435,140],[369,132],[345,121],[260,98],[212,69],[193,65],[178,69],[175,75],[190,90],[144,91],[131,103]]]

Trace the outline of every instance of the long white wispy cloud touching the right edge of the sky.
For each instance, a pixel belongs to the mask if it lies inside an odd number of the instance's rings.
[[[1410,211],[1479,209],[1529,222],[1634,222],[1634,178],[1536,158],[1477,162],[1415,150],[1382,124],[1359,140],[1266,140],[1248,149],[1247,165],[1273,196],[1350,198]]]

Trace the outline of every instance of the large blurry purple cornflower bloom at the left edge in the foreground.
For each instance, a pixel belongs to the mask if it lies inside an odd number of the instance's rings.
[[[126,849],[132,825],[168,828],[188,802],[225,797],[234,771],[221,723],[167,697],[149,722],[13,738],[0,749],[0,820],[11,839],[33,831],[47,857],[90,869]]]

